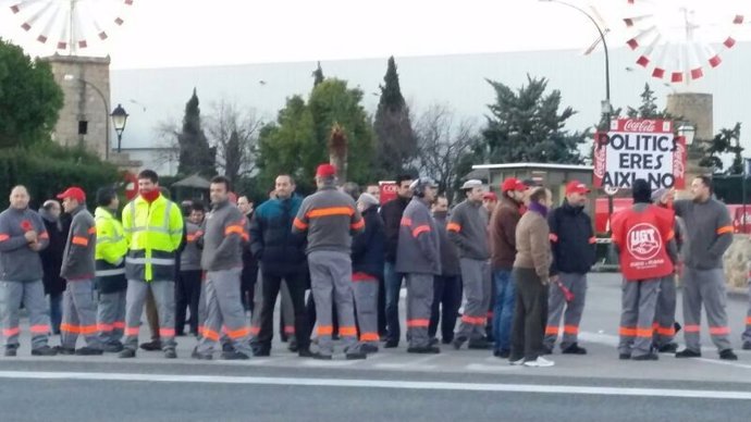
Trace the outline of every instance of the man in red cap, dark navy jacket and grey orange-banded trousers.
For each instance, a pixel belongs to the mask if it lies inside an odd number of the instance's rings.
[[[579,347],[579,322],[584,310],[587,273],[594,264],[595,238],[592,220],[584,212],[589,188],[579,181],[566,185],[566,199],[547,216],[551,233],[553,264],[551,275],[558,275],[551,283],[547,298],[547,326],[545,352],[552,353],[558,337],[561,316],[564,319],[561,350],[564,355],[586,355]],[[565,308],[565,312],[564,312]]]

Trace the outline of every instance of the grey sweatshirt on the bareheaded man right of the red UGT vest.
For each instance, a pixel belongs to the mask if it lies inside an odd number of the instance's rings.
[[[686,265],[697,270],[723,268],[723,255],[732,243],[732,222],[727,207],[716,199],[705,202],[675,201],[676,214],[684,219],[689,244]]]

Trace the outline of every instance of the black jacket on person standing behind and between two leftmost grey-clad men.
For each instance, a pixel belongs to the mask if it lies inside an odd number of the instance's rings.
[[[41,220],[47,227],[47,234],[50,237],[50,244],[47,248],[39,252],[41,258],[41,266],[45,272],[42,276],[42,284],[45,285],[45,294],[57,296],[65,290],[65,278],[60,276],[60,268],[62,266],[63,251],[65,250],[65,241],[67,240],[67,231],[71,227],[71,220],[66,214],[61,215],[60,227],[58,222],[48,220],[45,212],[40,212]]]

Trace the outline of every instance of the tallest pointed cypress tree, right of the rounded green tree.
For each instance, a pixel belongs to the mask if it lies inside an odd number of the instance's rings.
[[[378,139],[376,167],[381,177],[394,177],[414,161],[418,148],[393,55],[383,83],[373,124]]]

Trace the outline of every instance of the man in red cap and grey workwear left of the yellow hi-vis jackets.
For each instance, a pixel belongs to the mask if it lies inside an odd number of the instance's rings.
[[[79,187],[69,187],[58,195],[63,209],[73,220],[67,234],[60,276],[67,281],[63,294],[63,319],[60,324],[60,353],[93,356],[102,353],[97,328],[97,305],[94,302],[95,252],[97,226],[86,209],[86,194]],[[78,334],[86,346],[76,350]]]

